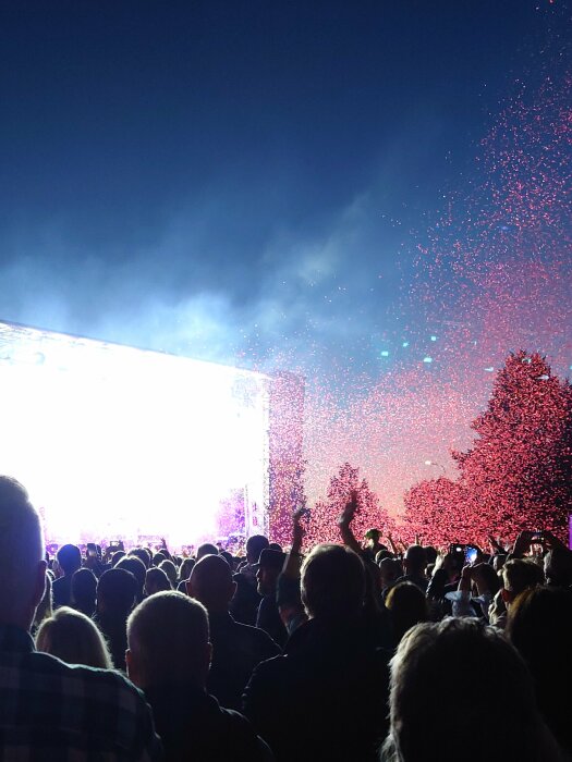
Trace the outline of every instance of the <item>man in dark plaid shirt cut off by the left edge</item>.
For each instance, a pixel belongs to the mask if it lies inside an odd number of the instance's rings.
[[[160,760],[149,708],[129,680],[35,650],[44,539],[26,490],[10,477],[0,477],[0,758]]]

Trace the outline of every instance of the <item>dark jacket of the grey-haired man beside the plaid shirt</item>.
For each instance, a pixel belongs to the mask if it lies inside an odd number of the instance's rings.
[[[182,686],[145,690],[165,762],[270,762],[270,750],[239,712],[222,709],[214,696]]]

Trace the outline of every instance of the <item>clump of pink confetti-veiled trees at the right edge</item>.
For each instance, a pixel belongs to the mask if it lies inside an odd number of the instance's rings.
[[[486,542],[548,529],[565,538],[572,512],[572,388],[538,354],[511,353],[471,450],[453,453],[460,478],[421,482],[405,495],[406,523],[433,542]]]

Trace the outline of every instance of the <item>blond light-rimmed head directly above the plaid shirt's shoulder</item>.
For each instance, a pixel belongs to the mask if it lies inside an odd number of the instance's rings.
[[[38,651],[51,653],[66,664],[111,669],[106,641],[95,623],[78,611],[61,606],[45,619],[36,635]]]

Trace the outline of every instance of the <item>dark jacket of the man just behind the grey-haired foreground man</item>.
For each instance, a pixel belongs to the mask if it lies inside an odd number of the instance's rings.
[[[212,643],[208,692],[223,706],[240,710],[254,667],[277,656],[280,649],[264,630],[241,625],[230,614],[209,613],[208,617]]]

